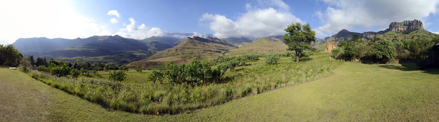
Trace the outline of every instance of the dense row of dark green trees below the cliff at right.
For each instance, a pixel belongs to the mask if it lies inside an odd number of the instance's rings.
[[[434,44],[434,38],[418,40],[382,40],[373,38],[369,41],[341,41],[339,48],[332,50],[332,57],[346,61],[355,59],[363,63],[416,62],[419,66],[428,57],[428,51]]]

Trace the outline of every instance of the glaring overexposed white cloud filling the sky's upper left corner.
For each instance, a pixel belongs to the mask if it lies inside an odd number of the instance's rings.
[[[0,4],[0,15],[2,44],[18,38],[74,39],[111,34],[106,24],[76,13],[64,1],[7,1]]]

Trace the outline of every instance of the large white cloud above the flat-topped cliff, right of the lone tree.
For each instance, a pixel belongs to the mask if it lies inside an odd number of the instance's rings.
[[[317,36],[332,35],[341,29],[387,28],[391,22],[423,20],[437,12],[439,0],[322,0],[329,7],[321,17],[323,26],[316,29]],[[318,15],[318,12],[317,12]]]

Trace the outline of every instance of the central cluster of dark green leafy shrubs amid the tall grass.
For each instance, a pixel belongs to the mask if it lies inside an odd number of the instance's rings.
[[[170,83],[190,85],[217,83],[224,76],[226,71],[235,71],[237,66],[246,65],[247,62],[254,62],[259,59],[259,55],[246,54],[235,57],[223,57],[217,62],[203,62],[192,59],[191,63],[173,64],[168,62],[165,68],[160,71],[153,71],[148,75],[148,81],[163,83],[165,78]],[[216,66],[216,67],[215,67]]]

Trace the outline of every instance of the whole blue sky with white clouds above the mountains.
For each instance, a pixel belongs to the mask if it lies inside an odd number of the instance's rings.
[[[439,0],[223,0],[223,1],[3,1],[0,44],[19,38],[87,38],[120,35],[144,39],[170,33],[266,37],[309,23],[317,38],[341,29],[381,31],[391,22],[421,20],[439,34]]]

